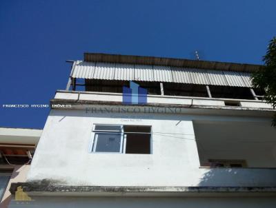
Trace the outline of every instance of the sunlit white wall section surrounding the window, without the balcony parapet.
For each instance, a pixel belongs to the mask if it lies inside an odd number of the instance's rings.
[[[166,185],[170,180],[177,185],[177,178],[185,177],[179,167],[198,169],[192,121],[153,114],[113,116],[52,110],[28,180],[52,178],[70,185]],[[156,133],[152,137],[152,154],[92,154],[89,147],[93,123],[152,125],[152,132],[168,134]],[[167,136],[170,134],[174,136]],[[192,174],[186,171],[186,177]]]

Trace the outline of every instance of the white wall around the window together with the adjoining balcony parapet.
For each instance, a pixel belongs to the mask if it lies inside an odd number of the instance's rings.
[[[245,116],[91,114],[85,110],[51,110],[28,181],[49,179],[64,185],[100,186],[276,185],[275,169],[199,168],[193,120],[270,123],[270,118]],[[151,125],[154,133],[152,154],[90,153],[93,123]]]

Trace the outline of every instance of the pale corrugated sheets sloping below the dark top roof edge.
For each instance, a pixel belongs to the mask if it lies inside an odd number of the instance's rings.
[[[93,63],[76,61],[72,77],[123,81],[159,81],[250,87],[250,73],[203,70],[160,65],[134,65],[125,63]]]

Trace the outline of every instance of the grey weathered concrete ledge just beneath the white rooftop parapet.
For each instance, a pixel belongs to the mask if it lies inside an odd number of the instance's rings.
[[[70,106],[64,107],[64,106]],[[52,109],[60,110],[86,110],[88,113],[90,109],[99,109],[103,112],[103,108],[108,107],[111,112],[120,112],[119,108],[130,109],[132,113],[137,113],[138,108],[141,113],[177,113],[177,114],[219,114],[219,115],[233,115],[240,116],[273,116],[276,110],[260,107],[233,107],[233,106],[217,106],[217,105],[187,105],[187,104],[172,104],[172,103],[146,103],[145,105],[124,105],[121,101],[88,101],[88,100],[75,100],[75,99],[52,99],[50,101]],[[116,110],[117,109],[117,110]],[[165,110],[164,110],[165,109]],[[152,110],[152,111],[150,111]],[[177,111],[175,111],[177,110]],[[106,110],[108,112],[108,110]],[[149,112],[150,111],[150,112]],[[131,111],[126,111],[130,112]]]

